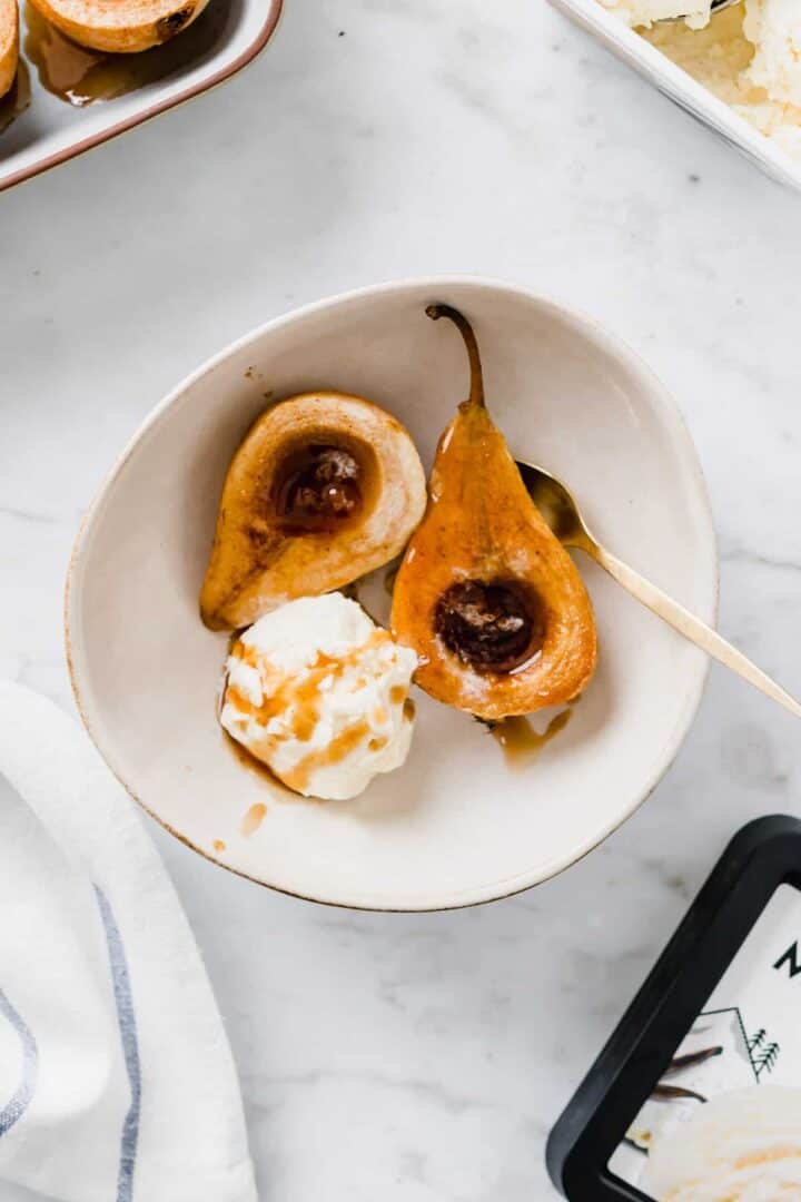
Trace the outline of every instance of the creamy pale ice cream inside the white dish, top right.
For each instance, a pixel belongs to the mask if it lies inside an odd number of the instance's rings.
[[[710,20],[710,5],[599,0],[760,133],[801,159],[801,4],[743,0]],[[683,10],[688,20],[666,20]],[[663,24],[659,22],[663,20]],[[688,28],[689,26],[689,28]]]

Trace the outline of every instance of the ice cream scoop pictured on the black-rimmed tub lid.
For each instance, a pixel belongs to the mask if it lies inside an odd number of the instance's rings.
[[[718,1094],[654,1142],[640,1189],[657,1202],[797,1202],[801,1089]]]

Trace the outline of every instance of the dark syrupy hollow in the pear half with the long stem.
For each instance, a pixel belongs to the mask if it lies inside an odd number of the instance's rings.
[[[542,649],[539,599],[508,581],[460,581],[440,597],[435,629],[449,651],[477,672],[512,672]]]

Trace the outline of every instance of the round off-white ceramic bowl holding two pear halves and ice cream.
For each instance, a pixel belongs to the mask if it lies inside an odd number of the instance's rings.
[[[67,589],[72,679],[97,746],[154,817],[223,867],[317,902],[443,909],[552,876],[657,784],[705,679],[698,650],[582,560],[598,673],[525,768],[422,695],[408,762],[355,802],[287,801],[232,755],[215,718],[226,638],[197,606],[228,462],[265,393],[324,386],[396,413],[428,466],[467,386],[455,332],[424,315],[431,300],[474,321],[513,451],[562,476],[611,548],[715,619],[715,537],[681,417],[587,319],[507,285],[435,279],[310,305],[215,356],[148,418],[85,519]],[[267,816],[243,834],[258,803]]]

